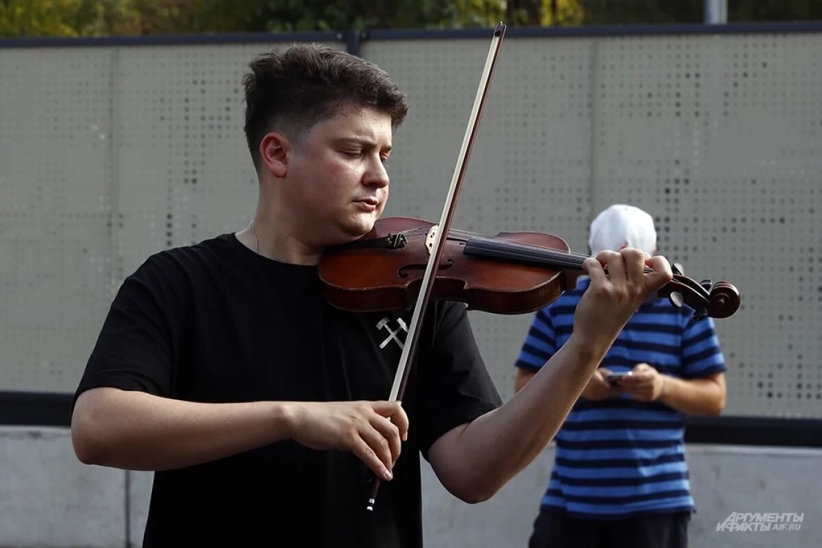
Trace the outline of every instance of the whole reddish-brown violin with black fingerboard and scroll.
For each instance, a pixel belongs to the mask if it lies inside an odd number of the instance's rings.
[[[433,251],[438,225],[409,217],[379,219],[362,238],[331,247],[319,274],[330,304],[348,311],[410,310]],[[430,298],[459,301],[469,310],[525,314],[575,288],[589,256],[570,252],[553,234],[518,232],[488,237],[451,230],[446,238]],[[650,269],[646,269],[650,271]],[[694,317],[727,318],[740,297],[731,283],[712,283],[681,274],[658,291]]]

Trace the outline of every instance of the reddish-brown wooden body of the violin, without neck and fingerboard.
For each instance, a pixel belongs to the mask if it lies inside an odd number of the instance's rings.
[[[378,219],[357,246],[336,246],[326,251],[319,273],[326,298],[349,311],[410,310],[417,301],[429,259],[428,231],[435,223],[409,217]],[[363,246],[392,235],[403,234],[401,247]],[[543,233],[499,233],[502,242],[516,242],[569,251],[561,237]],[[469,310],[494,314],[524,314],[554,301],[567,288],[575,287],[580,269],[574,273],[545,265],[512,267],[504,260],[464,253],[466,241],[448,238],[436,269],[431,298],[459,301]]]

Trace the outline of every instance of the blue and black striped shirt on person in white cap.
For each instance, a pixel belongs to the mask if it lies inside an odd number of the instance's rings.
[[[566,343],[589,281],[581,278],[577,288],[537,312],[516,366],[538,370]],[[725,371],[713,320],[693,320],[692,314],[667,299],[645,302],[601,365],[619,372],[646,362],[683,379]],[[580,518],[694,511],[684,431],[685,415],[663,403],[638,402],[627,394],[598,402],[580,398],[556,434],[543,506]]]

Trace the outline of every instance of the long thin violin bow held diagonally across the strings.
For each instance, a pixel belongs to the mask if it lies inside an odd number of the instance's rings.
[[[496,60],[499,58],[502,39],[505,37],[505,34],[506,25],[500,22],[494,29],[491,47],[488,49],[485,67],[483,68],[483,76],[480,78],[477,95],[473,101],[473,108],[471,109],[468,127],[465,128],[463,144],[459,150],[459,156],[457,157],[453,177],[451,177],[451,186],[448,191],[448,196],[446,197],[446,204],[442,210],[440,223],[436,225],[436,230],[433,231],[435,233],[434,242],[431,251],[429,251],[430,255],[428,256],[428,263],[426,265],[425,274],[423,275],[422,286],[417,296],[417,303],[414,306],[413,315],[411,316],[411,321],[409,322],[409,330],[405,337],[403,352],[399,357],[399,366],[397,367],[397,372],[394,377],[394,385],[391,386],[391,393],[388,398],[390,402],[401,402],[405,393],[405,385],[408,382],[409,376],[408,364],[417,351],[420,333],[419,325],[422,323],[422,319],[425,316],[425,311],[431,297],[434,281],[436,280],[434,271],[436,270],[437,265],[440,264],[442,251],[445,249],[445,244],[447,242],[447,237],[443,237],[443,235],[447,235],[450,232],[451,220],[454,218],[454,212],[456,210],[457,197],[459,196],[459,192],[462,190],[465,173],[468,168],[468,161],[471,156],[471,150],[473,149],[474,141],[477,139],[479,120],[483,116],[483,111],[485,110],[488,90],[491,88],[491,79],[496,69]],[[366,506],[368,511],[372,512],[374,510],[374,504],[376,504],[376,493],[380,488],[380,483],[380,478],[375,476],[372,482],[371,494],[368,497],[368,504]]]

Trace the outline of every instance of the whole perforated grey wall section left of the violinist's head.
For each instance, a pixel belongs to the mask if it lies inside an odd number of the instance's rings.
[[[0,389],[73,391],[123,276],[247,225],[242,75],[279,45],[0,49]]]

